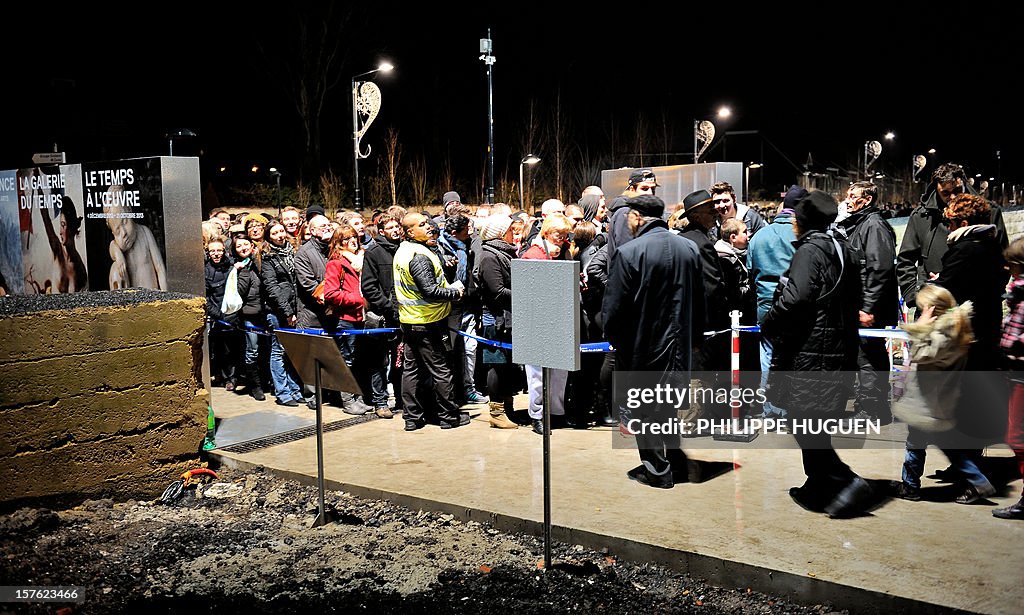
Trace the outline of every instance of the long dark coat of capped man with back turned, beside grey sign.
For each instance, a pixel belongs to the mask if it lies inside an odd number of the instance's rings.
[[[605,334],[615,369],[688,371],[705,321],[702,262],[697,247],[648,222],[618,247],[605,289]]]

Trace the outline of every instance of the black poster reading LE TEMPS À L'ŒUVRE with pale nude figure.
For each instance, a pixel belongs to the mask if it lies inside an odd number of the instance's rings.
[[[82,165],[93,291],[167,290],[160,159]]]

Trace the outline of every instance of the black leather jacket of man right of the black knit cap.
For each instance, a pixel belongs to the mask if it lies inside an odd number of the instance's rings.
[[[873,206],[851,214],[839,226],[850,248],[858,253],[864,293],[860,309],[874,315],[874,326],[896,324],[899,321],[896,232]]]

